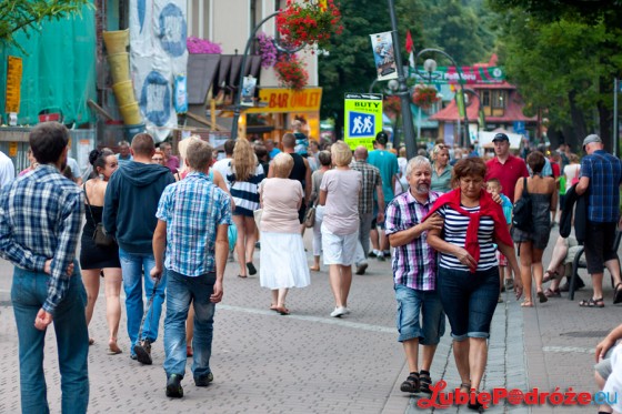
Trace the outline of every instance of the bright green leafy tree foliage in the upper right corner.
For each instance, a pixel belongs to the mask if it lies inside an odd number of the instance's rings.
[[[612,83],[622,72],[616,2],[490,0],[501,14],[500,60],[528,105],[543,110],[553,142],[561,131],[579,150],[598,131],[611,149]]]

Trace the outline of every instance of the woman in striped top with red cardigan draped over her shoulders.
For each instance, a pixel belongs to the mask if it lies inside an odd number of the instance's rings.
[[[457,162],[455,190],[442,195],[430,212],[444,219],[443,230],[428,233],[428,243],[440,253],[438,290],[451,324],[460,387],[465,392],[479,390],[488,359],[486,340],[500,287],[494,244],[514,274],[520,274],[501,205],[483,188],[485,171],[480,158]],[[519,297],[519,277],[514,277],[514,290]]]

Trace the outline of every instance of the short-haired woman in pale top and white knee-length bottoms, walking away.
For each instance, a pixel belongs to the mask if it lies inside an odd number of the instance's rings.
[[[348,295],[352,284],[352,263],[359,242],[359,194],[362,175],[350,169],[352,151],[343,141],[331,145],[334,170],[327,171],[320,184],[320,205],[325,205],[322,222],[324,264],[334,296],[332,317],[350,313]]]

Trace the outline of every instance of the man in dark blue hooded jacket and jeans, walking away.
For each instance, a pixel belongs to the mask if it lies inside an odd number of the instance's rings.
[[[144,292],[151,295],[153,280],[149,274],[156,264],[151,243],[158,223],[156,211],[162,191],[174,182],[168,168],[151,163],[154,152],[151,135],[137,134],[131,147],[133,160],[112,174],[103,203],[103,225],[119,243],[132,350],[130,357],[147,365],[151,364],[151,344],[158,339],[167,280],[162,277],[158,283],[153,305],[144,320],[142,337],[138,337],[143,314],[142,276],[144,274]]]

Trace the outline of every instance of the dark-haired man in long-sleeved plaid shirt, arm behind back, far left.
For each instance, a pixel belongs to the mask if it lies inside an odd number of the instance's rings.
[[[87,292],[76,263],[84,203],[60,171],[67,165],[69,131],[40,123],[29,137],[39,166],[0,194],[0,255],[14,264],[11,301],[18,327],[21,410],[48,413],[43,375],[46,330],[57,334],[62,412],[89,404]]]

